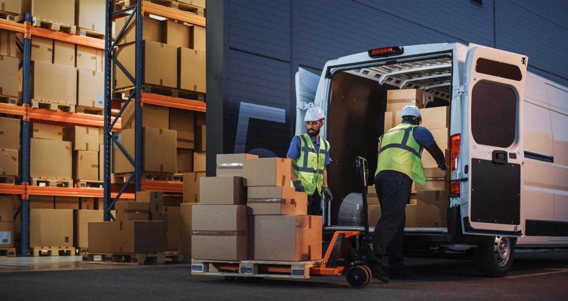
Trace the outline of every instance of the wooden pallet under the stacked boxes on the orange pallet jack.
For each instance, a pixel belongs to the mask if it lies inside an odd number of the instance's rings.
[[[217,261],[191,260],[191,274],[218,275],[227,277],[272,277],[289,279],[310,278],[310,268],[321,261]]]

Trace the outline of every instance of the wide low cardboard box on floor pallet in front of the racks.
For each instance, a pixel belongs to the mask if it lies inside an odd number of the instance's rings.
[[[163,221],[103,221],[89,223],[89,252],[161,253],[165,251]]]

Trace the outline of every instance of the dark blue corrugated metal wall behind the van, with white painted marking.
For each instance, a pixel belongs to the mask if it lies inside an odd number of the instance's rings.
[[[563,0],[224,0],[224,152],[285,156],[294,134],[294,73],[392,45],[477,43],[529,56],[568,86]]]

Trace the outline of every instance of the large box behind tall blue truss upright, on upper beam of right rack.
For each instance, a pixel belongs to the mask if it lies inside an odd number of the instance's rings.
[[[144,32],[146,32],[144,24]],[[135,73],[135,44],[122,45],[115,51],[116,58],[130,73]],[[156,59],[156,58],[159,58]],[[122,70],[114,68],[115,89],[132,86]],[[144,41],[144,83],[177,87],[177,48],[154,41]],[[167,126],[165,128],[168,128]]]

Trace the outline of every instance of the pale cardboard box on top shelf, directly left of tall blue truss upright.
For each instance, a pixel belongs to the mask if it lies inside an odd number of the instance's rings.
[[[105,32],[105,1],[75,0],[75,24],[79,28]]]

